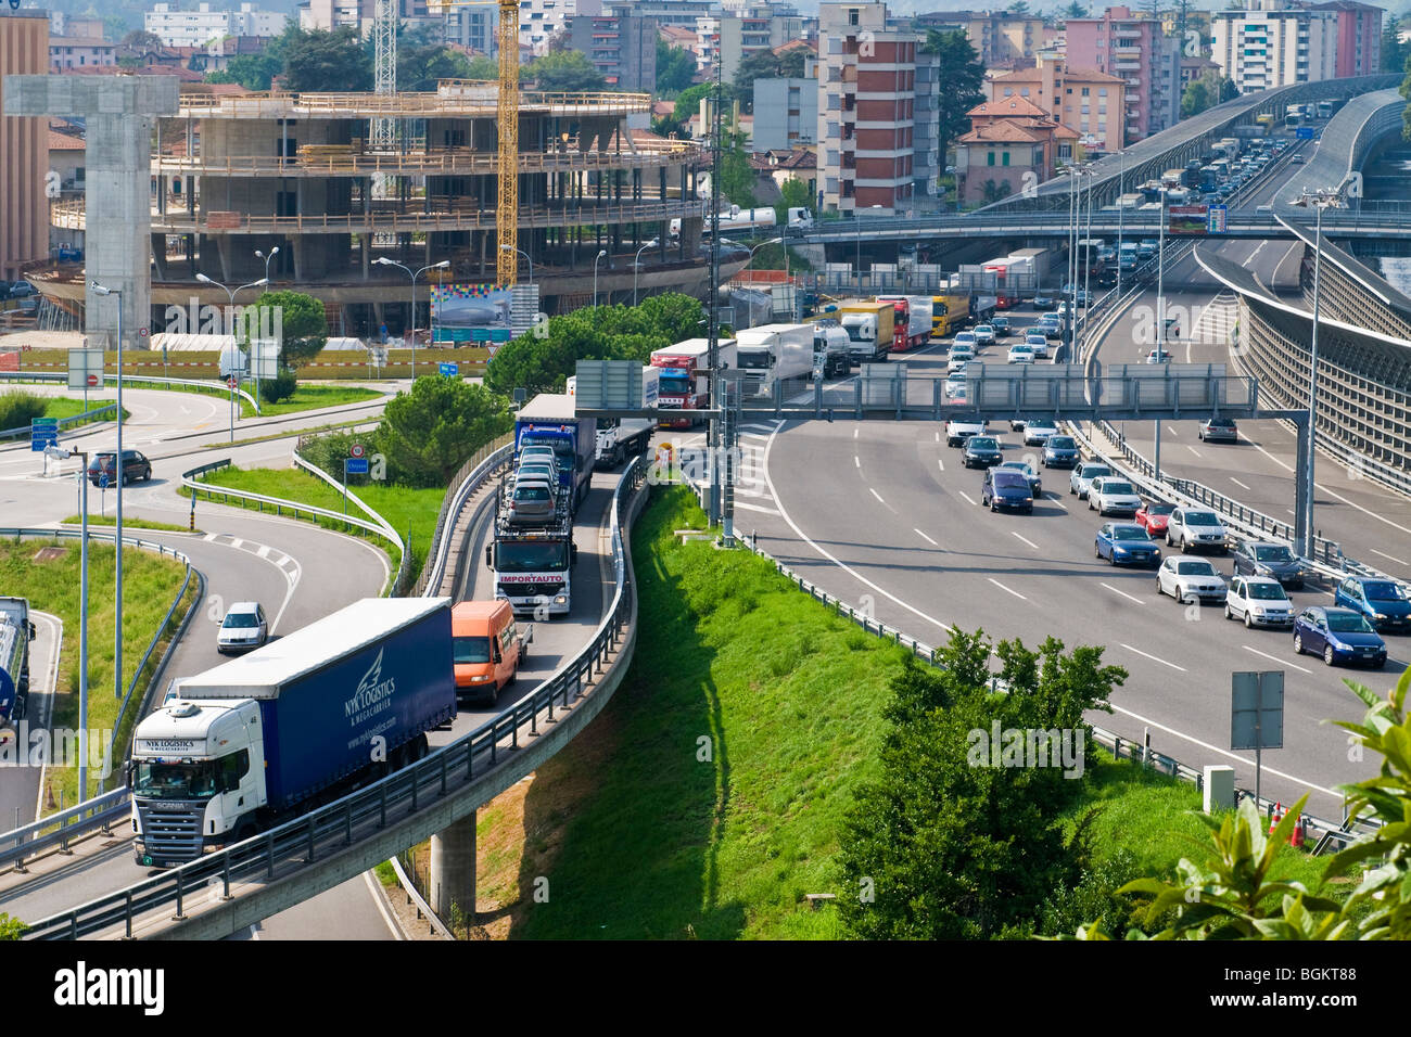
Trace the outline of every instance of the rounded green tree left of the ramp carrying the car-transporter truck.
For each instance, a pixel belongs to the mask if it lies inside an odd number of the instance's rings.
[[[418,378],[388,402],[378,436],[406,483],[443,487],[476,450],[511,429],[509,401],[460,378]]]

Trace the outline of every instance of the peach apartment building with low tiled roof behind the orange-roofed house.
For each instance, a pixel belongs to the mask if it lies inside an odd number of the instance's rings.
[[[1126,89],[1120,76],[1091,68],[1070,68],[1053,52],[1041,52],[1033,68],[986,76],[992,102],[1022,97],[1054,123],[1075,131],[1088,152],[1120,151],[1126,142]]]

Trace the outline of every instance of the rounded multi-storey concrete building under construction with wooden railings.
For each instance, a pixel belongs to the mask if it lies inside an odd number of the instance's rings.
[[[708,151],[629,131],[629,116],[649,107],[646,95],[521,93],[515,258],[545,312],[591,303],[594,291],[600,302],[706,295],[697,181]],[[394,147],[373,145],[378,120],[395,123]],[[152,126],[152,332],[169,306],[227,302],[198,274],[236,286],[268,269],[272,288],[320,298],[343,334],[406,325],[408,277],[381,257],[413,271],[449,261],[429,271],[442,282],[499,279],[495,83],[446,80],[389,96],[207,87],[183,92],[178,114]],[[55,203],[51,220],[82,240],[83,202]],[[669,233],[673,220],[679,234]],[[722,274],[745,258],[732,254]],[[27,275],[78,316],[80,268]],[[426,279],[416,327],[429,323]]]

